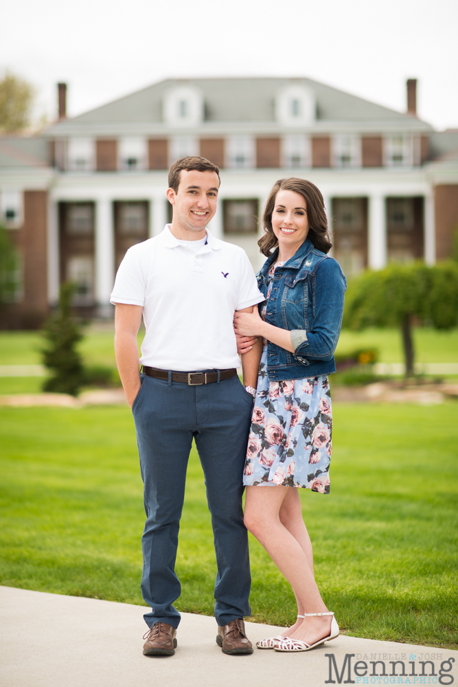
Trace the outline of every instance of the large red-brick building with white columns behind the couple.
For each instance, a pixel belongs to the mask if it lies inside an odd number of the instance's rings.
[[[41,137],[0,138],[0,219],[21,255],[1,326],[39,324],[65,280],[78,284],[83,312],[111,313],[117,265],[169,220],[167,169],[183,155],[220,166],[209,228],[255,269],[257,216],[286,176],[323,192],[347,276],[446,258],[458,228],[458,130],[422,122],[415,88],[409,80],[398,113],[306,78],[165,80],[69,119],[59,85],[58,122]]]

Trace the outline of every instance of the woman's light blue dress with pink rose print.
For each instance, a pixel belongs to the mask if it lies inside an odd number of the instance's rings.
[[[268,273],[267,300],[275,267],[282,264],[275,262]],[[281,484],[328,494],[331,435],[328,376],[269,381],[264,340],[243,484]]]

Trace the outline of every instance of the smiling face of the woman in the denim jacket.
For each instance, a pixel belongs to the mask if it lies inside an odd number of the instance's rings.
[[[275,196],[271,221],[280,251],[283,249],[294,255],[306,240],[309,229],[304,196],[295,191],[280,190]]]

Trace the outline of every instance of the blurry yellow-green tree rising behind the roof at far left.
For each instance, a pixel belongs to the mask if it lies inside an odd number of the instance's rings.
[[[23,79],[6,74],[0,81],[0,130],[21,131],[30,124],[35,89]]]

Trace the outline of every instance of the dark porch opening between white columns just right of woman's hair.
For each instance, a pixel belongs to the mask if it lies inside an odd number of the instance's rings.
[[[367,266],[367,199],[334,198],[332,216],[333,255],[350,278]]]

